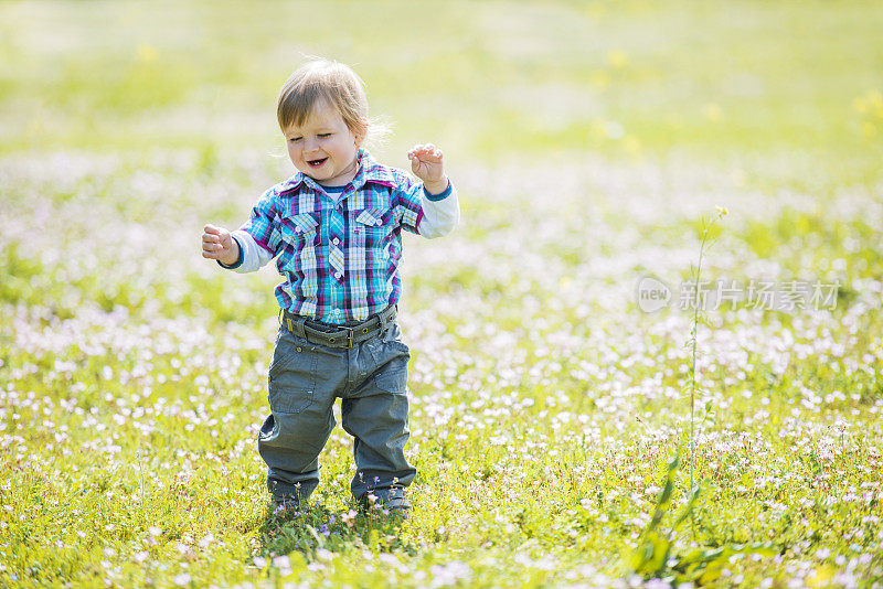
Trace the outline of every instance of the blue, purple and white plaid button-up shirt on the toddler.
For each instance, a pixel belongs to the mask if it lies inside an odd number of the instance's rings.
[[[344,323],[363,321],[398,301],[402,280],[402,229],[419,235],[422,195],[440,201],[456,193],[453,185],[438,195],[425,193],[422,182],[404,171],[375,162],[359,151],[359,171],[336,201],[315,180],[296,173],[267,190],[251,218],[233,236],[243,263],[247,237],[264,249],[262,263],[276,257],[285,280],[276,299],[291,313]],[[242,232],[247,234],[243,235]]]

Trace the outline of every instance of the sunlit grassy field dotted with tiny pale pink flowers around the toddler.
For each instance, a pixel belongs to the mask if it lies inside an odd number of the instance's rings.
[[[0,585],[883,587],[881,30],[871,1],[0,3]],[[278,275],[200,256],[290,173],[307,55],[460,194],[404,238],[403,524],[352,511],[340,428],[317,503],[272,513]]]

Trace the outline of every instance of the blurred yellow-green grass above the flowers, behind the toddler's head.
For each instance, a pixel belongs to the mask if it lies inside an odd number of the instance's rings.
[[[7,2],[3,150],[276,146],[304,55],[353,64],[395,147],[849,156],[879,139],[876,2]]]

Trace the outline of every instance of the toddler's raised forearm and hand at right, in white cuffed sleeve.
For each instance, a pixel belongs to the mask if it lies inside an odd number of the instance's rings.
[[[414,146],[407,157],[423,185],[402,194],[402,227],[428,239],[449,234],[459,222],[460,205],[454,184],[445,175],[444,153],[427,143]]]

